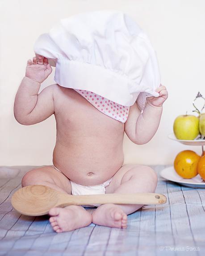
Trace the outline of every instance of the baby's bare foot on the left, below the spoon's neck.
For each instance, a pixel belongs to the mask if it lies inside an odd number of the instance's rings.
[[[92,222],[92,215],[78,205],[51,208],[49,215],[52,216],[49,219],[50,224],[58,233],[88,226]]]

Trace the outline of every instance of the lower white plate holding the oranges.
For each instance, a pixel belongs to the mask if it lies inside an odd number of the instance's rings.
[[[174,166],[163,169],[160,172],[160,176],[164,179],[171,180],[187,187],[205,188],[205,182],[203,179],[201,179],[201,176],[199,174],[192,179],[183,179],[180,175],[176,173]]]

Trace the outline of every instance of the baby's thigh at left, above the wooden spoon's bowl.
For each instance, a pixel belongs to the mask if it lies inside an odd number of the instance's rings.
[[[43,166],[40,168],[28,171],[21,180],[22,187],[29,185],[51,185],[52,188],[63,189],[68,194],[71,194],[71,182],[61,172],[54,169],[52,166]],[[53,185],[53,186],[52,186]]]

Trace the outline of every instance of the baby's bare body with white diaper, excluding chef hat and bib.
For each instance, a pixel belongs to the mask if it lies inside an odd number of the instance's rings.
[[[20,124],[37,124],[53,114],[57,124],[54,165],[27,172],[22,187],[41,184],[75,195],[155,192],[155,171],[149,166],[123,165],[122,145],[124,131],[138,145],[146,144],[155,135],[168,96],[166,87],[157,88],[159,97],[147,98],[143,113],[135,102],[123,123],[93,107],[73,89],[54,84],[38,94],[51,72],[47,58],[39,55],[28,60],[16,94],[14,115]],[[126,228],[127,214],[141,207],[105,204],[92,214],[78,205],[55,207],[49,211],[50,224],[56,232],[75,230],[91,222]]]

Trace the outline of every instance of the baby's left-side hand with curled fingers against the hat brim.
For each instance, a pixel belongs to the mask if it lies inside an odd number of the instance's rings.
[[[32,60],[27,61],[25,76],[29,77],[39,83],[42,83],[52,72],[52,68],[48,63],[48,59],[39,55],[38,57],[33,57]]]

